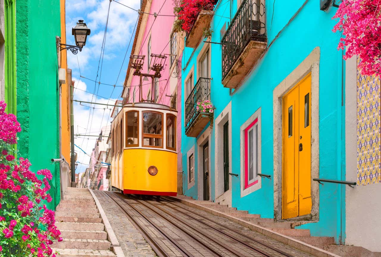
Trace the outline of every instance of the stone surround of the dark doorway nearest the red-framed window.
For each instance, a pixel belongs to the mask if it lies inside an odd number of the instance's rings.
[[[229,173],[232,173],[232,102],[229,102],[215,120],[215,195],[216,202],[232,206],[232,177],[229,190],[224,192],[224,124],[229,121]]]

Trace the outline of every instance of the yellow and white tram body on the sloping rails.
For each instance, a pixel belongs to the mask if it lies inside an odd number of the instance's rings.
[[[111,185],[124,194],[177,194],[177,111],[127,103],[111,123]]]

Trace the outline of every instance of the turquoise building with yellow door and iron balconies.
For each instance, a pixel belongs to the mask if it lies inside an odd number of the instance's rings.
[[[344,243],[345,185],[313,180],[346,180],[336,10],[308,0],[217,2],[211,38],[183,51],[184,195],[300,221]],[[196,109],[202,100],[214,105],[213,122]]]

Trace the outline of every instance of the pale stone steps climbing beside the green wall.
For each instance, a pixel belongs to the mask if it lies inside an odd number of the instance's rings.
[[[56,208],[62,242],[53,244],[60,257],[115,257],[101,215],[88,189],[69,187]]]

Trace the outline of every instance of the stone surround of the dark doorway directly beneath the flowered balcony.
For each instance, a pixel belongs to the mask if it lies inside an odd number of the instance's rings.
[[[204,200],[203,146],[209,141],[209,200],[211,200],[211,129],[208,127],[197,139],[197,199]]]

